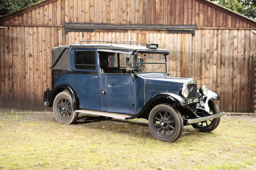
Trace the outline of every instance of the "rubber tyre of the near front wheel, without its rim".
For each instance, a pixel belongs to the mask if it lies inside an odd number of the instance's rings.
[[[166,111],[172,113],[172,116],[174,118],[175,131],[174,131],[173,135],[171,137],[168,137],[168,138],[161,137],[160,135],[158,135],[158,133],[154,129],[154,117],[161,110],[166,110]],[[151,134],[153,135],[154,138],[156,138],[160,141],[164,141],[164,142],[174,142],[182,134],[183,119],[182,119],[182,116],[180,115],[180,112],[178,112],[172,106],[170,106],[168,104],[159,104],[159,105],[155,106],[150,111],[150,114],[149,114],[149,117],[148,117],[148,126],[149,126],[150,132],[151,132]]]

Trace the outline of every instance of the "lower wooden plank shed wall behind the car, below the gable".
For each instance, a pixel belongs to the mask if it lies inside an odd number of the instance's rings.
[[[194,78],[220,94],[223,111],[252,111],[256,34],[250,30],[199,29],[195,36],[167,31],[68,32],[80,40],[141,41],[170,50],[172,76]],[[0,29],[1,107],[44,110],[42,92],[51,88],[51,48],[65,44],[60,27]]]

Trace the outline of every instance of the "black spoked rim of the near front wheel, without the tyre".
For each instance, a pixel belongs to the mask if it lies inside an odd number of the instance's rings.
[[[162,138],[171,137],[176,129],[175,119],[169,111],[158,111],[154,116],[154,131]]]

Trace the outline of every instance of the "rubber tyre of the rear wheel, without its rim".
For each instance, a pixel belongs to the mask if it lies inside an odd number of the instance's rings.
[[[70,114],[70,117],[66,120],[62,119],[62,117],[60,117],[58,115],[58,102],[61,100],[61,99],[67,99],[70,104],[71,104],[71,107],[72,107],[72,111],[71,111],[71,114]],[[60,92],[59,94],[57,94],[57,96],[54,98],[54,102],[53,102],[53,112],[54,112],[54,117],[56,119],[56,121],[58,121],[58,123],[62,123],[62,124],[65,124],[65,125],[69,125],[69,124],[73,124],[77,117],[78,117],[78,113],[75,112],[73,110],[73,103],[72,103],[72,98],[69,94],[68,91],[63,91],[63,92]]]

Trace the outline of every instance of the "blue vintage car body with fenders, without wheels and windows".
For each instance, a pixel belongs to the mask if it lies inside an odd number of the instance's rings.
[[[52,106],[54,97],[66,89],[72,95],[74,109],[88,109],[95,111],[114,112],[134,115],[134,117],[147,118],[148,110],[152,104],[165,102],[175,106],[182,115],[189,118],[198,117],[197,109],[208,113],[207,104],[199,102],[193,107],[187,104],[186,99],[180,95],[180,90],[187,86],[188,82],[194,87],[194,96],[190,98],[200,98],[200,101],[214,98],[219,100],[218,94],[211,92],[208,96],[202,96],[197,90],[195,80],[191,78],[171,77],[166,72],[135,72],[135,74],[103,73],[100,71],[99,49],[108,51],[110,47],[106,45],[70,45],[56,47],[53,49],[53,63],[61,55],[64,55],[62,64],[57,64],[52,68],[52,91],[50,97],[44,95],[45,101]],[[168,51],[161,49],[132,49],[132,47],[112,46],[118,53],[163,53],[168,55]],[[65,51],[66,50],[66,51]],[[112,49],[110,49],[112,50]],[[60,52],[62,51],[61,55]],[[65,52],[64,52],[65,51]],[[96,64],[94,69],[75,68],[74,54],[76,51],[91,51],[95,55]],[[132,51],[132,52],[129,52]],[[56,57],[60,55],[60,57]],[[65,62],[66,60],[66,62]],[[56,64],[56,62],[54,64]],[[54,65],[55,66],[55,65]],[[191,89],[193,89],[191,88]],[[196,90],[196,91],[195,91]],[[105,92],[105,94],[102,94]],[[204,105],[206,107],[204,107]]]

